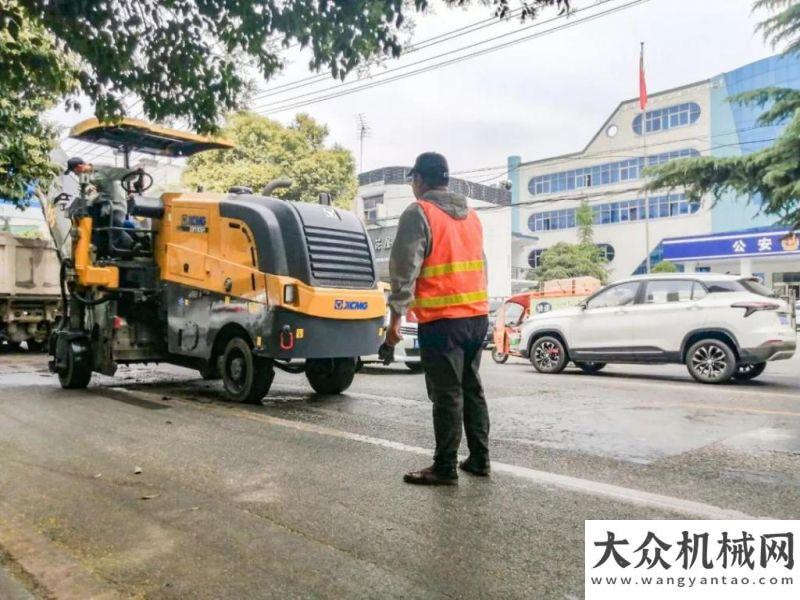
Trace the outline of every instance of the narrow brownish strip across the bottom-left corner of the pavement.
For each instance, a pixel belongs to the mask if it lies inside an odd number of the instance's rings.
[[[122,600],[55,542],[0,503],[0,547],[57,600]]]

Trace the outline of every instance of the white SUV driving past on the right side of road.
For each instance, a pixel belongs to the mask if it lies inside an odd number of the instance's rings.
[[[786,302],[756,279],[713,273],[614,283],[575,308],[531,317],[520,344],[540,373],[570,361],[589,373],[607,363],[682,363],[702,383],[753,379],[796,346]]]

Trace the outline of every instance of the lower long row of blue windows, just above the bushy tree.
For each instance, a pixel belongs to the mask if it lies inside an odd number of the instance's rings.
[[[667,219],[693,215],[700,210],[700,203],[689,200],[685,194],[653,196],[648,199],[651,219]],[[643,221],[645,214],[644,198],[622,200],[592,206],[595,225],[614,225]],[[574,208],[548,210],[533,213],[528,219],[528,227],[533,232],[573,229],[577,226]]]

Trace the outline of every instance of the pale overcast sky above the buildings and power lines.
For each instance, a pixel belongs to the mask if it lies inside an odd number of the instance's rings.
[[[575,6],[586,10],[572,21],[630,1],[576,0]],[[754,33],[763,15],[752,14],[752,4],[753,0],[649,0],[479,58],[303,108],[275,113],[268,112],[274,105],[264,105],[335,82],[326,79],[316,86],[257,98],[253,104],[282,121],[299,110],[310,113],[327,123],[331,140],[351,149],[356,160],[357,115],[363,113],[371,128],[365,170],[409,165],[425,150],[444,153],[454,173],[504,165],[512,154],[523,160],[558,155],[582,149],[621,100],[636,96],[641,41],[647,45],[651,92],[706,79],[772,54],[761,35]],[[415,17],[413,39],[426,40],[491,14],[478,3],[468,9],[438,5],[432,14]],[[554,16],[555,12],[545,12],[540,19]],[[373,69],[373,81],[382,78],[382,70],[431,58],[423,63],[427,66],[443,60],[436,57],[444,52],[511,34],[473,50],[482,49],[563,23],[543,23],[526,31],[522,28],[530,23],[518,20],[495,24],[400,61],[387,61]],[[286,72],[267,89],[309,76],[307,57],[289,52],[287,58]],[[418,67],[383,77],[412,68]],[[361,84],[342,89],[357,85]],[[64,118],[60,111],[59,119],[64,123],[78,120],[74,115]],[[480,181],[502,175],[498,169],[464,177]]]

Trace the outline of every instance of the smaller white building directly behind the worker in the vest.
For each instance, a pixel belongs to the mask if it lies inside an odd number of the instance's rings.
[[[379,275],[388,281],[389,252],[403,210],[415,201],[408,180],[410,167],[386,167],[359,175],[356,214],[364,220],[375,246]],[[489,271],[489,295],[511,293],[511,196],[507,190],[450,179],[450,190],[467,197],[483,225]]]

